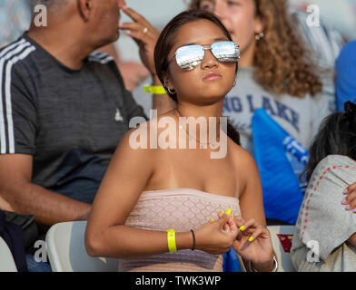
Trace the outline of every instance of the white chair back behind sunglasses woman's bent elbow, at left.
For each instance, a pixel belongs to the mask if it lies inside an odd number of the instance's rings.
[[[86,221],[58,223],[45,237],[47,254],[54,272],[117,272],[114,258],[92,257],[84,245]]]

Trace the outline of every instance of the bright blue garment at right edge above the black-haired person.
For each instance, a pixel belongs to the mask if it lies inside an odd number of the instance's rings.
[[[356,40],[343,47],[335,69],[336,108],[343,111],[345,102],[356,102]]]

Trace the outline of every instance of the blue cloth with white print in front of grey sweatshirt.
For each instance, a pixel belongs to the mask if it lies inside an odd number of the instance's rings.
[[[265,216],[293,225],[303,198],[298,179],[301,169],[295,164],[303,167],[309,152],[264,109],[254,112],[252,138],[254,159],[262,181]]]

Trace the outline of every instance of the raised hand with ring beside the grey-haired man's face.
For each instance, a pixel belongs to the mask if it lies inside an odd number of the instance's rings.
[[[154,46],[157,43],[159,32],[141,14],[132,8],[123,7],[125,14],[134,20],[133,23],[119,24],[119,28],[126,31],[126,34],[133,37],[140,48],[140,57],[144,66],[154,76]]]

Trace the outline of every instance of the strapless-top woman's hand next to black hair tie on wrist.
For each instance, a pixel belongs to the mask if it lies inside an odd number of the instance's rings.
[[[232,218],[221,215],[217,221],[210,221],[195,232],[195,247],[209,254],[223,254],[229,251],[236,239],[238,229]]]

